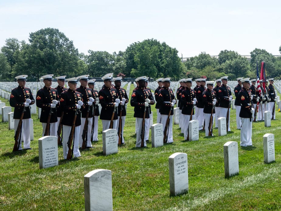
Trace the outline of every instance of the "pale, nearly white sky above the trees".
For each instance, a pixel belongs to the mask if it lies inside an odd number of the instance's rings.
[[[57,28],[79,52],[125,51],[154,38],[183,57],[221,50],[250,55],[255,48],[280,55],[281,1],[65,1],[0,2],[0,47],[7,38]]]

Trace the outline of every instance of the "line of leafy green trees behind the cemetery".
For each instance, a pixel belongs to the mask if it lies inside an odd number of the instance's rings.
[[[201,52],[182,63],[176,48],[153,38],[132,43],[118,53],[88,50],[88,55],[79,53],[73,42],[54,28],[32,32],[28,41],[6,39],[0,53],[1,81],[13,81],[21,74],[28,75],[29,81],[39,81],[40,76],[47,74],[101,77],[109,72],[115,76],[145,75],[154,79],[171,77],[172,80],[200,77],[214,80],[228,75],[234,80],[245,76],[255,78],[256,60],[258,64],[265,61],[267,76],[281,77],[281,58],[257,48],[250,53],[250,62],[235,51],[224,50],[220,51],[218,59]],[[279,51],[281,53],[281,46]]]

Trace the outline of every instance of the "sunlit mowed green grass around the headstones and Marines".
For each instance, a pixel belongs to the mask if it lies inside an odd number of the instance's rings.
[[[131,85],[131,92],[133,85]],[[130,92],[130,93],[131,93]],[[0,98],[2,102],[9,102]],[[277,106],[276,106],[277,107]],[[154,123],[155,106],[152,106]],[[34,121],[33,150],[12,152],[14,130],[0,123],[0,210],[84,210],[84,175],[95,169],[112,171],[114,210],[280,210],[281,209],[281,112],[271,127],[253,123],[253,146],[240,144],[235,110],[231,110],[231,132],[184,142],[179,125],[173,125],[174,143],[159,148],[135,148],[134,109],[127,107],[124,128],[125,146],[117,154],[102,155],[102,125],[99,121],[99,142],[94,149],[81,150],[82,157],[63,159],[58,147],[59,165],[39,169],[38,139],[42,126],[37,115]],[[275,135],[276,162],[263,161],[263,135]],[[239,174],[224,178],[223,145],[238,142]],[[189,192],[169,196],[168,157],[176,152],[187,153]]]

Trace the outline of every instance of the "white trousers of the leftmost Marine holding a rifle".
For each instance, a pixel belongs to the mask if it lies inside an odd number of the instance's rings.
[[[18,128],[18,125],[19,125],[19,119],[15,119],[15,132],[14,132],[15,135],[16,135],[16,130]],[[19,137],[21,137],[21,140],[23,140],[23,148],[24,149],[30,148],[30,118],[23,119],[21,134]],[[19,141],[19,139],[18,139],[18,141]],[[19,141],[19,150],[21,150],[23,148],[22,148],[22,142]]]

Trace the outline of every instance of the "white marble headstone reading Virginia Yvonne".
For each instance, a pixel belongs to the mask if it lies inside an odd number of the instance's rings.
[[[39,168],[58,166],[57,136],[43,136],[38,145]]]

